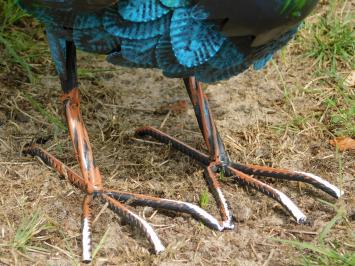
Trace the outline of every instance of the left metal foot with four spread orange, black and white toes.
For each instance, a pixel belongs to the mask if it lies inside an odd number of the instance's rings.
[[[175,211],[186,213],[202,222],[211,229],[223,231],[225,225],[218,221],[211,214],[200,208],[199,206],[171,199],[158,198],[143,194],[135,194],[129,192],[115,191],[111,189],[95,189],[91,192],[92,186],[85,178],[77,174],[71,168],[66,166],[60,160],[48,153],[46,150],[31,145],[24,148],[25,155],[39,157],[44,163],[53,167],[61,176],[65,177],[73,186],[79,188],[85,193],[83,201],[83,218],[82,218],[82,252],[83,262],[89,263],[91,257],[91,204],[96,198],[100,199],[103,204],[108,204],[108,207],[118,216],[126,220],[131,226],[140,230],[146,236],[153,246],[154,253],[158,254],[165,250],[164,245],[160,241],[153,227],[143,218],[131,211],[127,206],[149,206],[156,209]]]

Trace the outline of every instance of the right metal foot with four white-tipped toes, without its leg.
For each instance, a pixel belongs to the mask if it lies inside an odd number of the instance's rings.
[[[252,187],[263,194],[273,198],[279,202],[296,220],[297,223],[303,224],[306,222],[307,218],[303,212],[297,207],[297,205],[283,192],[273,188],[272,186],[256,179],[254,176],[265,176],[273,177],[276,179],[299,181],[313,185],[314,187],[323,190],[329,195],[339,198],[343,191],[338,187],[332,185],[325,179],[316,176],[314,174],[289,171],[285,169],[276,169],[266,166],[258,165],[243,165],[239,163],[234,163],[232,161],[221,162],[211,156],[204,154],[187,144],[161,132],[158,129],[152,127],[143,127],[136,131],[137,135],[140,137],[151,136],[156,140],[170,144],[173,148],[185,153],[189,157],[195,159],[205,168],[205,178],[208,186],[214,195],[217,205],[220,208],[220,213],[223,221],[223,227],[225,229],[232,229],[232,213],[227,200],[225,199],[222,190],[219,185],[218,179],[221,176],[232,178],[239,184]]]

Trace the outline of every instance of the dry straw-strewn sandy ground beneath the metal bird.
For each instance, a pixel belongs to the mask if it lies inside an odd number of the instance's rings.
[[[322,11],[308,24],[326,16],[327,7],[328,2],[323,2]],[[237,222],[235,230],[222,233],[187,215],[132,208],[154,226],[167,246],[160,255],[153,255],[142,236],[95,203],[93,265],[351,265],[355,261],[355,154],[337,151],[329,143],[335,135],[354,135],[351,128],[332,122],[337,113],[325,104],[338,95],[354,99],[352,68],[343,61],[337,68],[348,81],[341,94],[333,79],[316,76],[318,61],[306,56],[303,47],[311,29],[306,26],[266,69],[249,70],[205,89],[233,160],[315,173],[341,187],[342,199],[309,185],[263,179],[306,213],[310,223],[298,225],[272,199],[222,180]],[[21,63],[1,65],[0,265],[77,265],[83,193],[39,160],[21,154],[24,145],[43,139],[43,147],[78,170],[65,130],[60,84],[43,35],[36,38],[41,61],[30,61],[31,81]],[[192,159],[134,136],[136,128],[152,125],[205,151],[193,110],[184,104],[189,100],[182,81],[164,78],[155,70],[113,67],[104,57],[86,53],[79,54],[78,62],[83,118],[105,186],[195,204],[209,195],[203,171]],[[337,102],[336,110],[352,108],[353,101],[350,107],[344,102]],[[217,215],[212,196],[207,199],[203,207]]]

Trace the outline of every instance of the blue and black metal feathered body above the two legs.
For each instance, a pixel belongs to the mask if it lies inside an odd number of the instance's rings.
[[[301,2],[301,4],[299,4]],[[128,67],[214,82],[262,68],[317,1],[20,0],[51,38]],[[53,49],[52,49],[53,50]],[[63,56],[53,56],[63,72]]]

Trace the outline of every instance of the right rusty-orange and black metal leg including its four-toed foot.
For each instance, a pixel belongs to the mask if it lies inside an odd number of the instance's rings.
[[[184,82],[194,107],[198,125],[208,149],[208,155],[151,127],[143,127],[136,132],[139,136],[151,136],[160,142],[172,145],[172,147],[192,157],[204,167],[207,184],[219,206],[223,225],[226,229],[233,226],[232,214],[218,182],[218,177],[221,175],[231,177],[238,183],[250,186],[273,198],[290,212],[298,223],[304,223],[306,221],[306,216],[297,205],[281,191],[261,182],[253,176],[266,176],[277,179],[300,181],[311,184],[335,198],[339,198],[342,195],[343,192],[339,188],[321,177],[310,173],[275,169],[251,164],[243,165],[232,162],[225,151],[222,139],[216,129],[208,106],[207,96],[203,93],[200,82],[193,77],[184,79]]]

